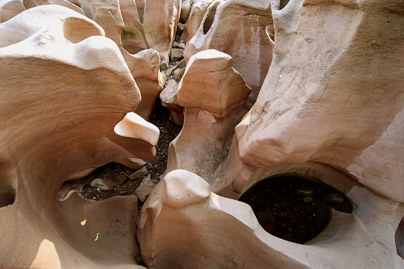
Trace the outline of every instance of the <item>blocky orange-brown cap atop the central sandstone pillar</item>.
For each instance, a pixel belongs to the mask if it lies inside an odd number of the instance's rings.
[[[178,101],[186,108],[198,107],[220,117],[229,107],[245,103],[250,91],[232,68],[232,58],[208,49],[189,59],[178,85]]]

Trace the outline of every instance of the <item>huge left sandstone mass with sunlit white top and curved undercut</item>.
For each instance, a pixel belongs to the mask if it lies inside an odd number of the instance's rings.
[[[44,5],[0,24],[0,65],[0,267],[134,264],[136,196],[57,200],[78,172],[154,158],[148,142],[113,131],[140,101],[116,44],[92,20]]]

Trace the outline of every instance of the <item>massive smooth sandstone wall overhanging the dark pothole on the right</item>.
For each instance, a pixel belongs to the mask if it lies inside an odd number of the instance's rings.
[[[265,167],[327,164],[404,202],[404,77],[395,54],[403,52],[403,36],[397,24],[385,28],[401,20],[393,11],[403,6],[343,3],[273,7],[274,60],[256,104],[236,127],[240,156]],[[341,24],[317,20],[325,8],[327,19]]]

